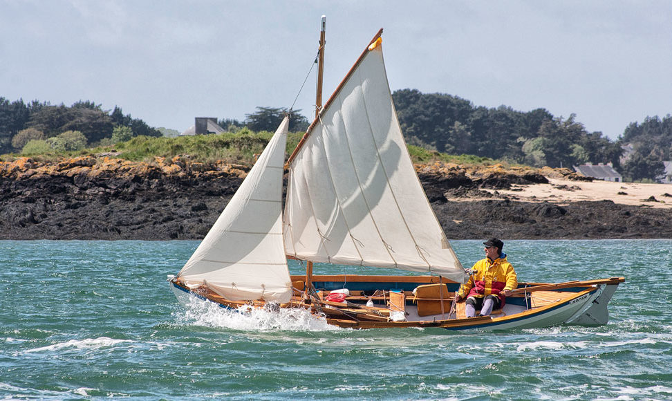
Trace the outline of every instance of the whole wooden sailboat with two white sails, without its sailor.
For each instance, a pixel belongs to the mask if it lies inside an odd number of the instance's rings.
[[[203,242],[169,280],[178,299],[197,297],[232,309],[304,308],[347,328],[606,324],[608,301],[623,277],[519,283],[501,310],[465,317],[454,295],[469,272],[413,169],[387,82],[381,35],[382,29],[324,107],[318,95],[315,121],[286,164],[288,118],[283,120]],[[324,55],[324,19],[320,52]],[[291,276],[288,258],[305,261],[306,274]],[[425,274],[313,275],[313,263]]]

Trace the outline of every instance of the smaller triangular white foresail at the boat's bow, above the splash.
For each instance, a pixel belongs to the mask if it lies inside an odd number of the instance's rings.
[[[287,302],[292,283],[282,239],[282,176],[289,117],[178,277],[233,301]]]

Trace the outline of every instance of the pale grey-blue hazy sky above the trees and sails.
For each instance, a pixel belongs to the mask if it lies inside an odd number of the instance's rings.
[[[325,101],[384,28],[391,91],[574,113],[613,140],[672,113],[667,0],[0,0],[0,97],[180,132],[295,99],[312,120],[321,15]]]

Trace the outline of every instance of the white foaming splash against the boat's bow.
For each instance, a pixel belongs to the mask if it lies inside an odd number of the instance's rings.
[[[173,313],[180,324],[228,328],[232,330],[265,331],[334,331],[343,330],[327,324],[324,317],[299,308],[252,308],[242,306],[232,310],[217,304],[189,297],[183,308]]]

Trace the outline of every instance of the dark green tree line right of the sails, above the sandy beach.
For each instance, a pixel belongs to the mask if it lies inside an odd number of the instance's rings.
[[[474,106],[469,100],[416,89],[392,95],[404,135],[428,149],[473,154],[534,167],[569,167],[612,163],[628,180],[653,180],[671,160],[672,117],[648,117],[631,123],[611,141],[584,124],[555,117],[545,109],[515,111],[507,106]],[[622,164],[623,144],[634,152]]]

